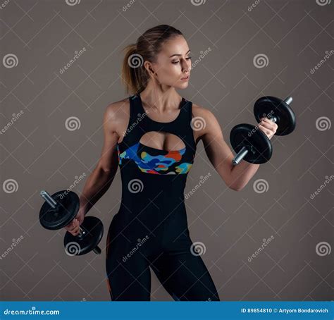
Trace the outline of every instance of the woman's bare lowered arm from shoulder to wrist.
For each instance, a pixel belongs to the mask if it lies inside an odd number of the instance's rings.
[[[113,104],[106,107],[103,118],[104,145],[100,159],[94,171],[87,178],[85,187],[80,195],[80,209],[85,214],[109,189],[118,168],[118,155],[116,144],[116,112]]]

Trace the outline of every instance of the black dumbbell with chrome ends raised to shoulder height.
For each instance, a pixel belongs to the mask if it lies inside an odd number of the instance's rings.
[[[261,97],[254,104],[254,116],[257,122],[267,117],[278,125],[275,135],[288,135],[295,130],[296,116],[289,104],[292,97],[284,101],[276,97]],[[259,127],[249,123],[235,125],[230,132],[230,143],[237,153],[232,161],[235,166],[242,159],[251,164],[264,164],[273,154],[273,146]]]

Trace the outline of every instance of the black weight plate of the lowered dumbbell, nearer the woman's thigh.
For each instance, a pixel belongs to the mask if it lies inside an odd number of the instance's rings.
[[[68,231],[64,237],[64,247],[69,255],[80,256],[92,251],[102,239],[103,223],[95,216],[85,216],[80,228],[85,231],[82,237],[72,235]]]

